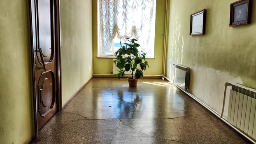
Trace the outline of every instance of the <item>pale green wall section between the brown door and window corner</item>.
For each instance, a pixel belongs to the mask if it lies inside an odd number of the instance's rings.
[[[92,0],[61,0],[63,106],[92,77]]]

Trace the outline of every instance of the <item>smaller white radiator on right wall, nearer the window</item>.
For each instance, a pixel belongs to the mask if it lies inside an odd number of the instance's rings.
[[[183,65],[175,65],[173,84],[185,91],[189,90],[190,70]]]

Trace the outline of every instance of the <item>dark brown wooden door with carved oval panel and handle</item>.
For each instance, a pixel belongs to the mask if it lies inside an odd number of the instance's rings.
[[[58,110],[56,2],[31,0],[31,7],[38,130]]]

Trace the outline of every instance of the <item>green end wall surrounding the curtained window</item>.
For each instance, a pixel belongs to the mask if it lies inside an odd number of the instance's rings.
[[[156,0],[155,58],[147,59],[150,68],[144,72],[144,75],[162,74],[165,3],[165,0]],[[112,59],[114,58],[98,58],[97,49],[97,0],[93,0],[93,74],[109,74],[113,72]]]

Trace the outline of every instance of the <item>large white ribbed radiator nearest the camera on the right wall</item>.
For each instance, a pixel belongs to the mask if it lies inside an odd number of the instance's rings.
[[[241,84],[231,84],[228,121],[256,140],[256,90]]]

